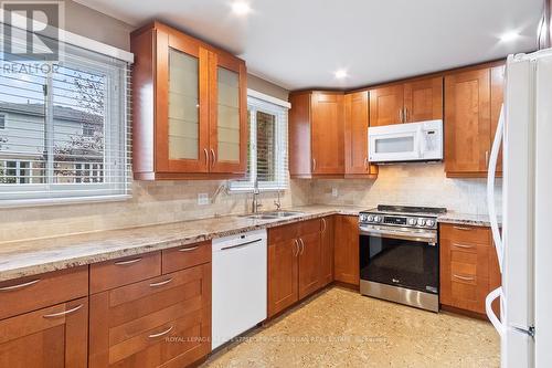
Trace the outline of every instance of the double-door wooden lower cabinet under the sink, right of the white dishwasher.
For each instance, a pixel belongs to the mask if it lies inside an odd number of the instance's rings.
[[[268,317],[332,281],[332,217],[268,230]]]

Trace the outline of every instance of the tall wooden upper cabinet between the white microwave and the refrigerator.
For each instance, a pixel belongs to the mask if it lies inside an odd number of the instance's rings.
[[[445,170],[484,176],[491,145],[490,70],[445,77]]]

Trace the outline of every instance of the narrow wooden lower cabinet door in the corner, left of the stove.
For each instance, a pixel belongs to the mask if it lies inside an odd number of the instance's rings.
[[[342,283],[359,285],[359,218],[337,215],[335,221],[335,278]]]

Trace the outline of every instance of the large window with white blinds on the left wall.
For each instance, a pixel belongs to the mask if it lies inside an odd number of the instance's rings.
[[[71,44],[56,62],[12,56],[0,53],[0,206],[128,197],[128,63]]]

